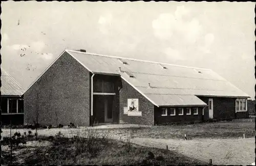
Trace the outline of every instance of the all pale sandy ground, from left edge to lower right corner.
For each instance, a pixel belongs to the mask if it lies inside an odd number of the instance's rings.
[[[69,128],[54,128],[54,129],[40,129],[38,135],[55,135],[61,131],[65,136],[73,136],[78,132],[82,133],[86,129],[108,129],[108,128],[124,128],[124,127],[141,127],[138,125],[103,125],[97,127],[81,127],[78,129]],[[144,126],[145,127],[145,126]],[[13,129],[12,133],[19,131],[23,134],[25,131],[28,134],[28,129]],[[31,130],[34,134],[35,130]],[[98,132],[108,132],[107,130]],[[2,136],[9,136],[10,129],[3,129]],[[112,132],[109,135],[112,139],[122,140],[126,139],[124,133]],[[169,150],[174,150],[178,153],[186,155],[188,157],[196,158],[204,162],[209,162],[212,159],[212,164],[225,164],[225,165],[247,165],[255,161],[255,140],[254,138],[249,139],[193,139],[193,140],[178,140],[178,139],[152,139],[152,138],[140,138],[134,137],[131,139],[132,143],[156,147],[166,148],[168,145]]]

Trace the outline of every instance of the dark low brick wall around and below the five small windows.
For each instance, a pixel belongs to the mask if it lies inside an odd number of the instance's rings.
[[[175,116],[170,116],[170,107],[167,107],[167,116],[162,116],[163,107],[155,107],[155,123],[156,124],[170,124],[170,123],[178,123],[178,122],[200,122],[203,119],[202,110],[203,107],[198,107],[198,115],[193,114],[193,109],[191,108],[191,115],[186,115],[186,107],[183,107],[183,115],[179,114],[178,107],[175,108],[176,114]],[[180,107],[181,108],[181,107]]]

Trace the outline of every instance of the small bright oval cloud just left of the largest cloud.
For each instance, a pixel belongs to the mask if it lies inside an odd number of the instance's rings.
[[[99,23],[99,30],[102,34],[108,34],[110,26],[112,25],[113,16],[112,14],[104,14],[104,16],[100,16],[98,23]]]

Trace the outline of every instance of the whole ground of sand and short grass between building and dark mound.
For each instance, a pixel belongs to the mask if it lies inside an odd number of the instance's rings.
[[[212,159],[213,164],[251,164],[255,160],[255,128],[254,120],[237,120],[232,122],[202,123],[172,126],[138,126],[138,125],[104,125],[97,127],[81,127],[80,129],[53,128],[40,129],[38,135],[55,135],[61,131],[70,137],[79,133],[81,136],[87,129],[98,129],[116,140],[131,141],[138,145],[175,150],[188,157],[204,162]],[[28,129],[13,129],[28,133]],[[35,130],[31,130],[34,134]],[[183,139],[186,133],[188,140]],[[246,139],[242,139],[245,133]],[[10,135],[10,129],[3,129],[3,136]]]

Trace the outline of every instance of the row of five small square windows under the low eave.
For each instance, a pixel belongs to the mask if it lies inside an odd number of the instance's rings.
[[[191,111],[193,115],[198,115],[198,108],[185,108],[186,115],[191,115]],[[167,114],[167,108],[162,108],[162,116],[175,116],[176,115],[176,108],[170,108],[169,114]],[[178,115],[184,115],[184,109],[178,108]]]

